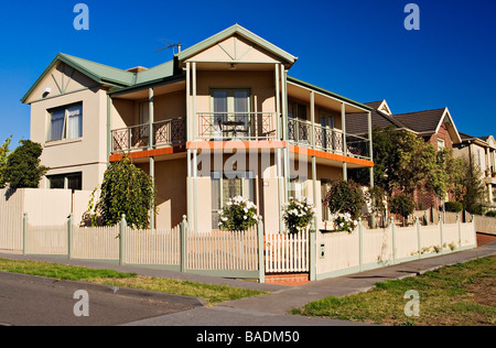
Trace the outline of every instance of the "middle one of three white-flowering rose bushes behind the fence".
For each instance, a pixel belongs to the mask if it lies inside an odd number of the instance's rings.
[[[305,230],[312,222],[315,214],[315,207],[306,197],[291,197],[289,203],[283,207],[283,219],[288,231],[290,233],[298,233]]]

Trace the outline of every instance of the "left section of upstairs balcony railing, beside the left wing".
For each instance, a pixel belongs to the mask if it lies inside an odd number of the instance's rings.
[[[112,131],[112,153],[177,146],[186,143],[186,119],[175,118],[153,123],[150,144],[150,124],[140,124]]]

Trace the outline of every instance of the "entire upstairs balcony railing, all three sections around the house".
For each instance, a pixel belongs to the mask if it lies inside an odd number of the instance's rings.
[[[197,115],[196,140],[203,141],[277,141],[278,118],[274,112],[204,112]],[[132,126],[111,132],[112,154],[186,144],[186,118],[175,118],[153,123],[153,142],[150,144],[150,124]],[[315,145],[312,146],[312,127]],[[369,140],[345,134],[338,129],[312,124],[310,121],[289,119],[290,144],[319,151],[370,160]],[[343,144],[346,142],[346,152]]]

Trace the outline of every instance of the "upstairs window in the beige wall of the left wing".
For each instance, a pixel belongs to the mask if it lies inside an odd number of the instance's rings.
[[[83,105],[76,104],[50,110],[47,141],[83,137]]]

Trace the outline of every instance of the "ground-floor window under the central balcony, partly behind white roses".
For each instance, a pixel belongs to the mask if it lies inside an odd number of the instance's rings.
[[[218,229],[218,210],[237,196],[255,203],[255,175],[242,173],[212,173],[212,228]]]

